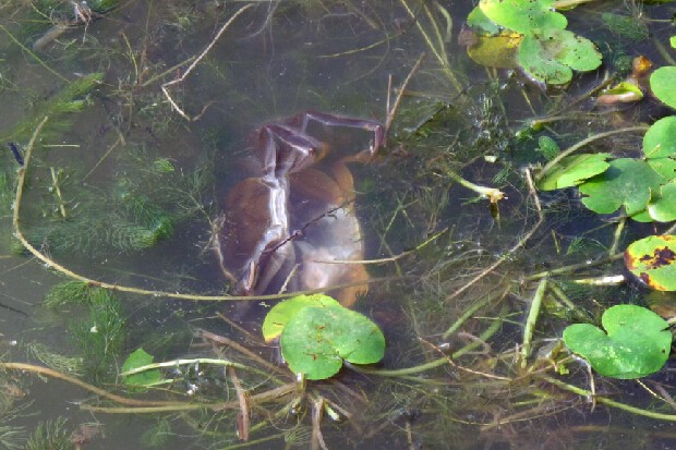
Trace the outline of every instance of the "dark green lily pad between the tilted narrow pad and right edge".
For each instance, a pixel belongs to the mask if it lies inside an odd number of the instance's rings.
[[[592,211],[613,214],[624,206],[627,216],[632,216],[645,209],[651,192],[657,191],[664,181],[645,161],[618,158],[579,188],[587,195],[582,203]]]

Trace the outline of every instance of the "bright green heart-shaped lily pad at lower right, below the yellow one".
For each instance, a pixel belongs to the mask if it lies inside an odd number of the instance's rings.
[[[640,378],[660,370],[669,355],[668,324],[655,313],[636,305],[608,308],[601,318],[603,328],[589,324],[570,325],[564,342],[587,360],[599,374],[613,378]]]

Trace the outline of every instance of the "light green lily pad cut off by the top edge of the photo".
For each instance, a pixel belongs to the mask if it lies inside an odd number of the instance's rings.
[[[568,21],[553,10],[552,3],[554,0],[481,0],[479,8],[491,21],[514,32],[564,29]]]

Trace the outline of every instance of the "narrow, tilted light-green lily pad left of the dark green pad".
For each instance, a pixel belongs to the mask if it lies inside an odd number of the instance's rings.
[[[605,172],[611,167],[606,161],[611,156],[611,154],[579,154],[566,157],[540,181],[539,186],[542,191],[577,186]]]

